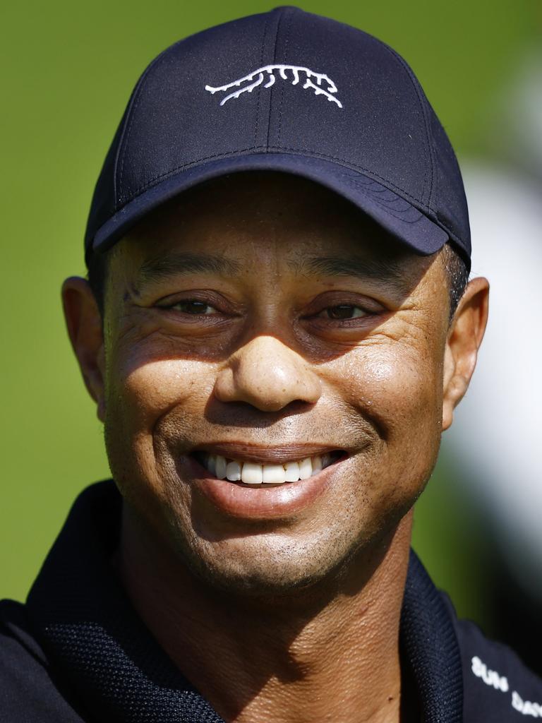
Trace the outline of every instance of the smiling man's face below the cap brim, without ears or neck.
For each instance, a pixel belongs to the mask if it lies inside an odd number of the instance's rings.
[[[439,447],[438,254],[405,251],[309,181],[240,174],[184,194],[110,256],[111,470],[189,568],[277,592],[397,525]],[[310,458],[316,474],[247,485],[217,479],[221,458],[270,479]]]

